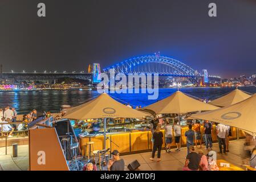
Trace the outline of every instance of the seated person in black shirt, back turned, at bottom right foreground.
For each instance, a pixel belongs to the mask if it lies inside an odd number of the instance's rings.
[[[194,146],[189,146],[190,153],[186,156],[183,171],[198,171],[201,156],[194,151]]]

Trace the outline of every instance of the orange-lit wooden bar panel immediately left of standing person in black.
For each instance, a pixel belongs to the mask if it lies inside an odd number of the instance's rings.
[[[148,132],[150,131],[131,133],[132,151],[148,150]]]

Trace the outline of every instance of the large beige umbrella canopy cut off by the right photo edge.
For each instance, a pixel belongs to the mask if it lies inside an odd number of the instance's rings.
[[[222,123],[241,130],[256,133],[256,94],[237,104],[191,117]]]

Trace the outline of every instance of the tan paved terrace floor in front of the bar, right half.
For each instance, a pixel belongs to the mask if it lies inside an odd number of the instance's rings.
[[[230,141],[229,152],[226,155],[217,154],[217,159],[225,159],[227,162],[239,167],[242,167],[243,164],[249,164],[249,156],[246,155],[243,143],[245,143],[245,140]],[[204,148],[205,146],[202,146],[202,148],[196,148],[196,151],[201,149],[205,152],[205,154],[207,154],[207,151]],[[213,144],[213,150],[216,152],[218,151],[218,143]],[[149,160],[149,158],[151,158],[152,152],[125,155],[121,157],[125,160],[126,165],[137,159],[141,164],[139,170],[181,171],[185,163],[187,150],[185,147],[183,147],[180,152],[175,152],[174,150],[172,151],[173,152],[166,153],[165,150],[162,150],[160,162],[152,162]]]

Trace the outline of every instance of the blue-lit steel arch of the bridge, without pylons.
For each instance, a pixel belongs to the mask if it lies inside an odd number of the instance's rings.
[[[197,71],[188,65],[166,56],[149,55],[133,57],[132,59],[121,61],[111,67],[104,68],[105,73],[115,69],[115,73],[158,73],[166,76],[195,77],[200,76]]]

